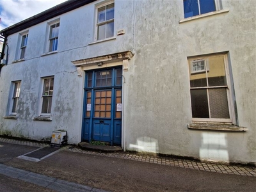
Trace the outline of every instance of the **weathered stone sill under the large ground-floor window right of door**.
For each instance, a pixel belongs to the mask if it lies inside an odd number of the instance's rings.
[[[188,129],[202,129],[215,131],[248,131],[246,127],[239,127],[230,124],[192,123],[188,124]]]

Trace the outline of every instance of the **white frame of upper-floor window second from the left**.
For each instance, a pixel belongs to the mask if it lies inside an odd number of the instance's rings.
[[[59,47],[59,38],[60,38],[60,26],[59,26],[59,31],[58,31],[58,36],[54,36],[54,38],[51,38],[51,26],[54,26],[56,24],[60,24],[60,19],[56,19],[56,20],[52,20],[51,22],[47,23],[47,36],[46,36],[46,46],[45,46],[45,52],[57,52],[58,51],[58,47]],[[52,51],[52,49],[50,49],[51,47],[51,40],[56,40],[58,39],[58,45],[57,45],[57,49]]]

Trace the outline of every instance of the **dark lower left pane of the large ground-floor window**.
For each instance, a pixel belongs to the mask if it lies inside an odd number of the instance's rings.
[[[209,118],[207,90],[190,90],[193,118]]]

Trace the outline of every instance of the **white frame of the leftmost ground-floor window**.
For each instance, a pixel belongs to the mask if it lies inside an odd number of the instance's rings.
[[[16,86],[17,85],[17,86]],[[10,115],[16,116],[17,115],[17,109],[18,109],[18,104],[19,104],[19,98],[20,98],[20,86],[21,86],[21,81],[12,81],[12,86],[11,86],[11,102],[10,102]],[[16,102],[16,104],[15,104]],[[13,111],[13,106],[15,104],[15,110]]]

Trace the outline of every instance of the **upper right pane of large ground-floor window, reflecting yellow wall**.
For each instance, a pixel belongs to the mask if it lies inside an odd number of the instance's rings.
[[[209,86],[227,85],[224,56],[211,57],[207,63],[209,63],[209,72],[207,73]]]

